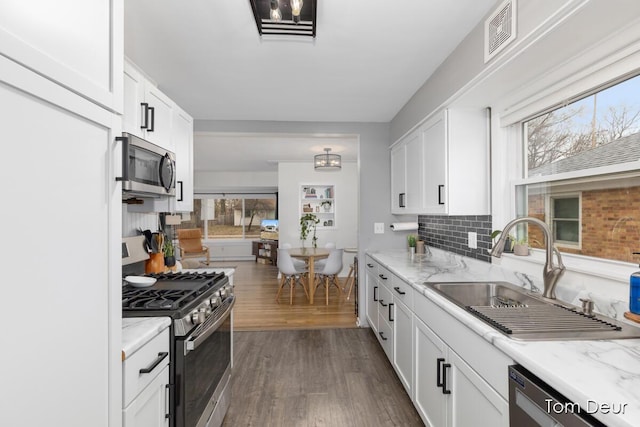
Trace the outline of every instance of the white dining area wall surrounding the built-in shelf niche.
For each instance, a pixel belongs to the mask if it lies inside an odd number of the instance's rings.
[[[358,247],[358,169],[355,163],[343,163],[339,172],[316,172],[313,162],[280,163],[278,165],[278,219],[280,242],[293,247],[300,241],[300,187],[302,185],[334,185],[336,226],[318,229],[318,247],[333,242],[338,248]],[[305,243],[311,246],[311,238]],[[345,254],[340,276],[346,276],[353,254]]]

